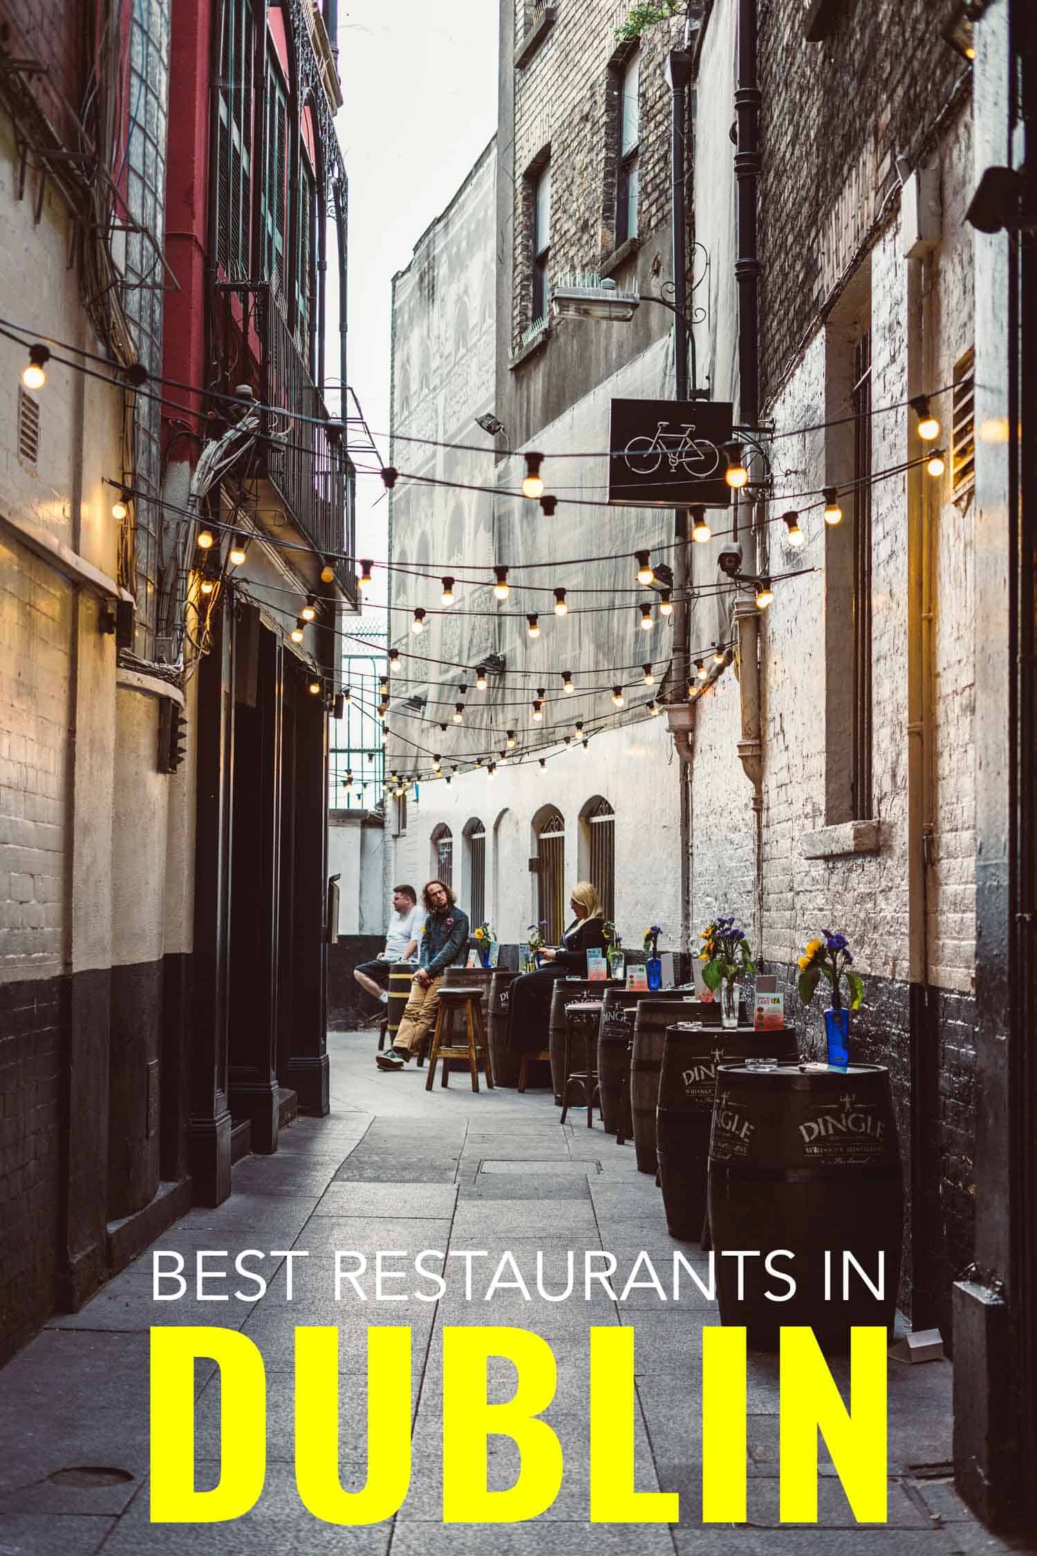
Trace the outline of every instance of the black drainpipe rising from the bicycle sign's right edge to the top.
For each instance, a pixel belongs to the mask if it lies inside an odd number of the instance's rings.
[[[734,176],[738,180],[738,414],[745,426],[760,419],[760,375],[757,363],[757,310],[760,261],[756,247],[756,202],[760,179],[759,114],[760,89],[756,84],[756,0],[738,0],[738,86],[734,95],[738,149]]]

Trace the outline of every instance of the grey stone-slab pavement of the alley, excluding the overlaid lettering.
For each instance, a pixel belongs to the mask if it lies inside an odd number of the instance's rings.
[[[333,1249],[485,1249],[473,1263],[474,1291],[485,1291],[510,1249],[535,1291],[535,1253],[546,1277],[561,1276],[567,1249],[578,1267],[585,1249],[611,1249],[620,1276],[645,1249],[661,1271],[672,1265],[655,1183],[637,1173],[633,1147],[617,1147],[586,1113],[564,1128],[544,1091],[482,1089],[473,1095],[457,1075],[449,1091],[424,1089],[424,1071],[382,1075],[365,1035],[330,1039],[333,1109],[300,1119],[281,1136],[277,1156],[246,1158],[233,1170],[233,1195],[218,1211],[197,1209],[157,1246],[190,1260],[197,1248],[306,1249],[295,1262],[286,1304],[286,1260],[263,1299],[177,1302],[151,1298],[151,1254],[112,1281],[82,1312],[51,1321],[0,1374],[0,1556],[215,1556],[322,1551],[437,1556],[449,1551],[571,1553],[637,1551],[637,1556],[973,1556],[1021,1550],[987,1534],[950,1483],[950,1376],[947,1362],[889,1363],[889,1516],[885,1526],[855,1523],[830,1461],[821,1452],[818,1525],[782,1525],[777,1514],[777,1363],[749,1358],[749,1505],[745,1525],[701,1519],[701,1326],[711,1307],[684,1296],[679,1309],[637,1291],[627,1304],[605,1293],[550,1302],[501,1293],[465,1302],[457,1285],[438,1302],[362,1304],[347,1287],[334,1299]],[[697,1245],[689,1259],[701,1260]],[[457,1282],[463,1262],[451,1263]],[[269,1273],[269,1270],[267,1270]],[[401,1288],[406,1288],[404,1282]],[[424,1288],[410,1274],[410,1290]],[[235,1281],[227,1282],[233,1290]],[[555,1287],[557,1288],[557,1287]],[[372,1285],[373,1291],[373,1285]],[[558,1433],[566,1474],[553,1506],[535,1522],[445,1526],[440,1483],[442,1335],[445,1323],[516,1323],[552,1346],[558,1391],[547,1419]],[[319,1523],[302,1506],[292,1469],[292,1329],[340,1327],[340,1475],[347,1489],[365,1480],[365,1327],[410,1323],[414,1333],[414,1472],[392,1522],[348,1530]],[[255,1508],[222,1525],[149,1523],[148,1330],[152,1323],[221,1323],[249,1335],[267,1374],[267,1472]],[[679,1525],[588,1522],[588,1323],[636,1326],[634,1463],[639,1491],[679,1492]],[[846,1366],[835,1363],[836,1377]],[[490,1371],[510,1391],[510,1366]],[[197,1489],[219,1474],[219,1383],[197,1365]],[[518,1458],[507,1439],[491,1439],[490,1486],[512,1484]],[[87,1472],[75,1472],[82,1470]],[[115,1470],[118,1475],[98,1474]],[[64,1472],[64,1474],[62,1474]]]

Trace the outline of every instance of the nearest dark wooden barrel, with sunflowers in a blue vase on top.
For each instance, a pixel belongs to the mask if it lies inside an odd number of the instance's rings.
[[[720,1321],[745,1324],[754,1349],[777,1349],[784,1324],[808,1324],[826,1351],[847,1351],[855,1324],[892,1332],[903,1184],[889,1071],[882,1064],[725,1067],[717,1077],[707,1198]],[[779,1279],[763,1259],[720,1257],[728,1248],[780,1248],[793,1257],[774,1262]],[[796,1282],[793,1296],[768,1301],[766,1291],[788,1291],[785,1274]]]

